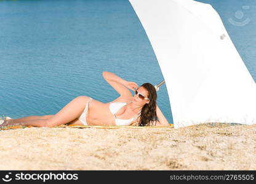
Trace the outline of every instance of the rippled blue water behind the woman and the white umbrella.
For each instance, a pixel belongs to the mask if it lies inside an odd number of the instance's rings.
[[[255,1],[202,2],[220,14],[256,80]],[[238,10],[244,17],[235,17]],[[228,18],[250,22],[239,27]],[[129,1],[0,1],[0,116],[54,114],[81,95],[112,101],[118,93],[103,80],[103,71],[138,85],[163,79]],[[166,85],[158,92],[158,105],[172,123]]]

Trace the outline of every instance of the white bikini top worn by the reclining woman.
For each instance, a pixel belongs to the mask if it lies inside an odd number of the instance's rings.
[[[131,102],[131,101],[130,101]],[[110,112],[113,113],[114,118],[115,118],[115,122],[117,126],[128,126],[130,125],[130,123],[132,123],[132,121],[134,120],[134,118],[136,117],[136,115],[133,118],[130,118],[128,120],[124,120],[124,119],[118,119],[116,118],[115,113],[118,112],[119,109],[121,109],[122,107],[124,107],[124,105],[127,105],[129,102],[124,103],[124,102],[112,102],[110,103]],[[139,114],[140,112],[138,112]],[[137,115],[138,115],[137,114]]]

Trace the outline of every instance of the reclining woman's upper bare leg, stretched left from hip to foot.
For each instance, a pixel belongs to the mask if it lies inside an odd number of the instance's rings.
[[[71,102],[65,105],[63,109],[61,109],[54,116],[43,119],[39,118],[36,120],[27,120],[19,123],[8,123],[8,125],[24,125],[24,126],[37,126],[37,127],[54,127],[66,123],[70,123],[71,121],[78,118],[83,112],[86,103],[89,101],[89,97],[87,96],[78,96],[74,98]]]

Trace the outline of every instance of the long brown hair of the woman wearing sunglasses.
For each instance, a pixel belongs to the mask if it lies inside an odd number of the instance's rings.
[[[142,107],[138,126],[153,126],[153,123],[156,123],[156,120],[158,120],[156,115],[156,99],[158,94],[156,93],[156,88],[151,83],[143,83],[141,86],[148,91],[150,102]]]

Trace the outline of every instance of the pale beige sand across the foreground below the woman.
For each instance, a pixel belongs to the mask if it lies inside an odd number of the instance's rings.
[[[0,131],[0,170],[256,170],[256,125]]]

